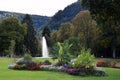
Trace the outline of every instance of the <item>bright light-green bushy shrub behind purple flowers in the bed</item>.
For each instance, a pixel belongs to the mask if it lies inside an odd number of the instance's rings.
[[[95,67],[95,57],[91,54],[90,49],[83,48],[80,55],[72,63],[74,68],[94,68]]]

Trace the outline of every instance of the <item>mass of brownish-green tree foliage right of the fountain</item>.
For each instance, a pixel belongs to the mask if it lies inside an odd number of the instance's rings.
[[[80,11],[72,22],[61,24],[60,29],[53,32],[52,38],[55,42],[68,40],[69,44],[72,44],[70,53],[77,56],[82,47],[97,51],[96,44],[98,44],[100,32],[96,22],[92,20],[90,12],[86,10]]]

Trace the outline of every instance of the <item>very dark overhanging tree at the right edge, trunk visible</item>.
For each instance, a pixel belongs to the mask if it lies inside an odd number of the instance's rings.
[[[92,17],[101,26],[102,41],[107,41],[107,48],[112,49],[115,58],[117,46],[120,45],[119,0],[82,0],[82,5],[90,10]]]

